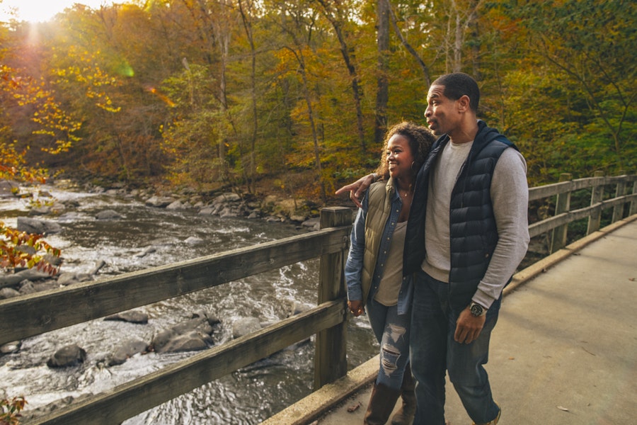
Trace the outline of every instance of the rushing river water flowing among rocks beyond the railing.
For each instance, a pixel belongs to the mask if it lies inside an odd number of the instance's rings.
[[[46,187],[67,207],[59,217],[46,217],[62,232],[45,240],[62,249],[62,272],[86,273],[105,261],[98,278],[193,259],[275,239],[305,230],[265,220],[219,218],[197,210],[150,208],[132,197],[108,193],[78,193]],[[102,210],[115,210],[120,220],[96,220]],[[0,199],[0,221],[16,226],[28,214],[25,200]],[[199,243],[188,241],[200,239]],[[193,240],[193,238],[191,238]],[[152,248],[152,249],[149,249]],[[116,385],[181,361],[190,353],[136,355],[122,365],[108,366],[109,353],[125,339],[150,341],[156,331],[183,322],[195,310],[207,310],[221,320],[215,344],[229,341],[231,324],[258,317],[267,324],[284,319],[294,305],[314,306],[319,280],[318,260],[292,264],[215,288],[140,307],[148,324],[101,319],[47,332],[22,341],[18,353],[0,356],[0,397],[24,395],[29,409],[63,397],[98,394]],[[78,344],[88,354],[84,364],[51,369],[47,359],[58,348]],[[377,346],[367,319],[348,324],[348,365],[374,356]],[[203,385],[124,422],[141,424],[258,424],[308,395],[314,380],[314,343],[297,344],[246,368]]]

